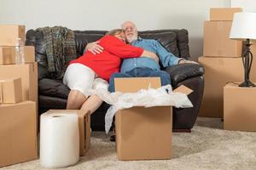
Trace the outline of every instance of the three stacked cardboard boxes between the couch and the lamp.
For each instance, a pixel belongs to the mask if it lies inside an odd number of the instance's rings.
[[[233,15],[242,8],[211,8],[210,21],[204,23],[203,56],[205,92],[200,116],[223,117],[223,88],[227,82],[242,82],[242,42],[231,40]]]

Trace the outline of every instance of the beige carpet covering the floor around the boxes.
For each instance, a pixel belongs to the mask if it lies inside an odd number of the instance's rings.
[[[220,119],[199,118],[192,133],[173,133],[173,159],[164,161],[118,161],[115,144],[105,133],[92,133],[91,148],[73,167],[79,169],[200,170],[256,169],[256,133],[224,131]],[[0,170],[44,169],[29,161]]]

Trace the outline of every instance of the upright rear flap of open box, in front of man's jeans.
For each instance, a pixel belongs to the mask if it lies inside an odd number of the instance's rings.
[[[116,92],[135,93],[141,89],[160,88],[160,77],[114,78]]]

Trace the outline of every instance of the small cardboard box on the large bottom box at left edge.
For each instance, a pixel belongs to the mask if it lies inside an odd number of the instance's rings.
[[[22,101],[21,79],[0,78],[0,103],[14,104]]]

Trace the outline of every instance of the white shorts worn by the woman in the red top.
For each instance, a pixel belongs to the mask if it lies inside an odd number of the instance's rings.
[[[104,88],[108,91],[108,82],[96,75],[89,67],[73,63],[67,66],[63,83],[71,90],[79,90],[86,97],[90,89]]]

